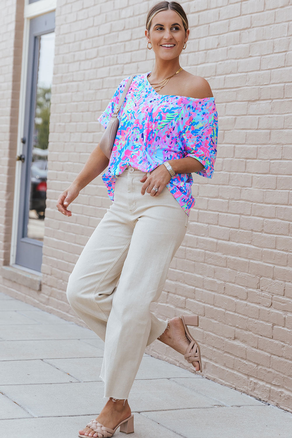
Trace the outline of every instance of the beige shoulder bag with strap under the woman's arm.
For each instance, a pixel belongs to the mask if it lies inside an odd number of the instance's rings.
[[[116,106],[116,109],[114,110],[113,115],[109,120],[109,124],[106,127],[106,131],[102,134],[102,138],[100,139],[100,142],[99,142],[99,147],[101,148],[102,152],[107,156],[108,159],[110,159],[110,155],[111,155],[112,150],[113,150],[113,144],[114,144],[115,139],[116,139],[116,133],[119,129],[120,121],[117,118],[117,115],[118,115],[118,112],[120,111],[120,107],[122,106],[122,103],[125,99],[125,96],[127,94],[127,91],[130,87],[130,84],[131,84],[134,76],[136,76],[136,75],[133,74],[129,78],[127,85],[124,88],[123,94],[120,96],[119,103]]]

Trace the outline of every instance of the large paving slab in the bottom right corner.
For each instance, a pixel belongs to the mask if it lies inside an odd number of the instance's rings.
[[[290,438],[292,414],[274,406],[217,407],[144,412],[186,438]]]

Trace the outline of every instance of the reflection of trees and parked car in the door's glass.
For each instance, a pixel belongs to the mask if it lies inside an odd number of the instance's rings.
[[[43,240],[55,32],[47,33],[37,38],[39,39],[39,70],[36,85],[34,131],[32,136],[32,164],[27,236],[32,239]]]

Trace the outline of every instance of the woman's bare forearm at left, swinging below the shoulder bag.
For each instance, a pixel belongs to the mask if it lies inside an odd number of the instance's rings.
[[[98,144],[89,155],[83,169],[78,173],[72,185],[78,187],[79,190],[83,189],[87,184],[98,177],[108,165],[109,159],[102,152]]]

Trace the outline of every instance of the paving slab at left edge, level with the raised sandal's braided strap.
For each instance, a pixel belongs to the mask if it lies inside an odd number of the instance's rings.
[[[1,341],[1,360],[100,357],[103,351],[77,339]]]

